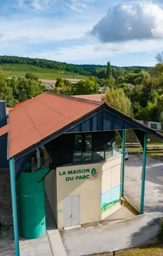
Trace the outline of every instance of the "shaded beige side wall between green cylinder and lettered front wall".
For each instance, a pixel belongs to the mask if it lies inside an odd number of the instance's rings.
[[[56,170],[51,170],[45,177],[45,191],[49,200],[50,207],[54,214],[56,223],[58,221],[58,208],[57,208],[57,184],[56,184]]]

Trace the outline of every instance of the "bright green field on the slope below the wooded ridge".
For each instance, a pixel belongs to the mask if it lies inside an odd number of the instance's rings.
[[[86,76],[75,74],[74,72],[40,68],[30,64],[1,64],[0,70],[8,77],[24,77],[26,72],[33,72],[39,79],[53,80],[58,77],[69,79],[86,79]]]

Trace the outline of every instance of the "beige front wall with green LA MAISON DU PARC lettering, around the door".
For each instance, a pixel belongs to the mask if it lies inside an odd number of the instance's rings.
[[[95,168],[93,176],[91,170]],[[75,173],[77,170],[89,170],[86,173]],[[74,171],[71,173],[71,171]],[[69,172],[68,172],[69,171]],[[89,179],[79,179],[79,176],[89,175]],[[68,180],[70,177],[73,180]],[[81,224],[103,220],[101,215],[102,193],[121,183],[121,154],[114,152],[114,156],[107,161],[94,164],[80,164],[62,166],[56,169],[57,201],[58,201],[58,228],[64,227],[63,200],[68,195],[80,195]],[[119,196],[120,197],[120,196]],[[104,213],[105,218],[114,212],[112,209]],[[119,209],[116,205],[115,209]]]

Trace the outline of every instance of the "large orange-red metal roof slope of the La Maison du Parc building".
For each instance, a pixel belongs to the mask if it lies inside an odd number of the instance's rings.
[[[100,102],[54,93],[42,93],[22,102],[9,112],[8,157],[19,154],[100,106]]]

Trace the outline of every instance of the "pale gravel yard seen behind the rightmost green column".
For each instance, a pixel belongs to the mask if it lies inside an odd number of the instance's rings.
[[[140,207],[143,156],[129,155],[125,161],[125,193]],[[163,159],[146,157],[144,210],[163,214]]]

